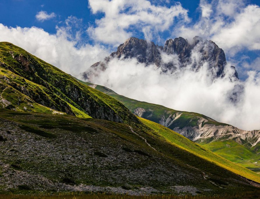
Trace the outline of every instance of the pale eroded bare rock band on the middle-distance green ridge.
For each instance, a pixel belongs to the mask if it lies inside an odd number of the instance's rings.
[[[213,140],[224,138],[233,139],[239,144],[241,144],[243,141],[244,143],[248,143],[251,147],[260,142],[260,130],[246,131],[231,125],[225,125],[223,123],[223,125],[207,123],[208,121],[214,120],[206,116],[194,116],[197,121],[195,126],[190,126],[189,124],[187,124],[186,126],[180,127],[179,124],[174,123],[174,121],[179,119],[183,112],[173,113],[171,111],[165,111],[165,113],[161,115],[159,121],[151,119],[151,117],[153,116],[153,111],[151,109],[137,107],[133,113],[139,117],[143,117],[145,119],[160,123],[161,125],[174,130],[175,132],[183,135],[184,137],[192,141],[205,141],[209,138]]]

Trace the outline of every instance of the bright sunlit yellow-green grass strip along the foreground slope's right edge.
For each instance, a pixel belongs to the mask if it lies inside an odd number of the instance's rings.
[[[144,124],[151,127],[155,132],[158,132],[159,135],[164,137],[167,141],[169,141],[171,144],[178,146],[190,153],[193,153],[203,159],[206,159],[210,162],[215,163],[218,166],[221,166],[229,171],[232,171],[233,173],[236,173],[238,175],[241,175],[245,178],[248,178],[250,180],[253,180],[255,182],[260,183],[260,175],[257,173],[250,171],[247,168],[244,168],[238,164],[235,164],[227,159],[224,159],[223,157],[213,153],[212,151],[199,146],[198,144],[190,141],[189,139],[185,138],[184,136],[170,130],[169,128],[166,128],[158,123],[139,118]]]

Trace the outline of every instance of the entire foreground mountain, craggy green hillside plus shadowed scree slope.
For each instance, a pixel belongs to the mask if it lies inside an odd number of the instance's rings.
[[[0,42],[0,193],[260,193],[260,176]]]

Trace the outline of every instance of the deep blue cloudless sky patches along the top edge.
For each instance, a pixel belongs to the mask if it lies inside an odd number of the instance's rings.
[[[154,2],[158,4],[158,2],[161,3],[162,1]],[[180,2],[184,8],[189,10],[189,15],[192,18],[196,19],[199,17],[198,12],[196,12],[199,1],[185,0]],[[169,4],[165,5],[169,6]],[[48,13],[54,12],[57,17],[52,20],[40,22],[36,20],[35,15],[42,10]],[[93,15],[88,8],[88,1],[86,0],[1,0],[0,11],[1,23],[6,26],[37,26],[43,28],[48,33],[56,33],[56,25],[60,22],[64,22],[67,17],[71,15],[83,19],[83,23],[86,26],[88,26],[89,23],[94,24],[95,19],[99,19],[103,16],[102,13]],[[136,35],[136,37],[144,36],[139,34]]]

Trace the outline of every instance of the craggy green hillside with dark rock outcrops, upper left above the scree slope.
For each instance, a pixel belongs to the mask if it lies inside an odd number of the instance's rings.
[[[114,98],[86,87],[8,42],[0,42],[0,93],[0,105],[11,110],[63,112],[138,123],[138,119]]]

